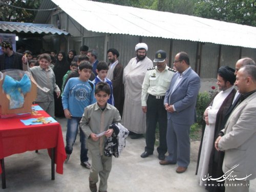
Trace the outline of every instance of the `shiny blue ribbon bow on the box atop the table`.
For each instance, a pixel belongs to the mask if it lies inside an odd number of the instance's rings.
[[[10,108],[20,108],[24,103],[24,94],[31,90],[31,81],[27,74],[24,74],[20,81],[16,81],[9,75],[6,75],[3,90],[6,94],[10,95],[10,101],[12,101],[10,102]]]

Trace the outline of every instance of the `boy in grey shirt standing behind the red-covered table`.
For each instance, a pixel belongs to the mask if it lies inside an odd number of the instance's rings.
[[[55,91],[57,97],[60,96],[60,89],[55,83],[55,75],[49,67],[51,57],[48,54],[41,54],[39,57],[39,66],[30,68],[30,72],[38,86],[49,89],[48,92],[43,89],[37,89],[37,97],[35,104],[38,104],[50,116],[54,117],[54,96]]]

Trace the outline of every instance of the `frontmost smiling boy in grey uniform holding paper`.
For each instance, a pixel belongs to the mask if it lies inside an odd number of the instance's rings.
[[[99,82],[96,85],[95,97],[97,103],[84,109],[80,126],[81,132],[87,137],[88,149],[92,156],[90,189],[93,192],[97,191],[99,175],[99,191],[103,192],[108,188],[108,177],[112,167],[112,156],[104,155],[104,143],[113,133],[113,129],[109,129],[110,125],[121,122],[121,117],[115,106],[107,103],[110,98],[110,87],[106,82]]]

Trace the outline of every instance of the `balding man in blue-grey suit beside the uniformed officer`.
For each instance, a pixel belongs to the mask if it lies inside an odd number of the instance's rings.
[[[168,156],[161,165],[178,163],[177,173],[186,171],[190,161],[189,129],[196,121],[196,102],[200,89],[200,77],[189,66],[187,53],[175,56],[174,67],[178,71],[170,82],[164,98],[167,111]]]

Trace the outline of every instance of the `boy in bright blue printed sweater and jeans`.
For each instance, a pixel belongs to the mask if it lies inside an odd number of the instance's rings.
[[[67,154],[66,162],[68,162],[72,154],[79,121],[81,120],[84,108],[96,102],[94,97],[94,84],[89,80],[92,73],[92,66],[83,61],[78,67],[78,73],[79,77],[73,77],[68,80],[62,96],[65,117],[68,119],[65,147]],[[86,136],[81,131],[79,133],[81,142],[80,164],[89,169],[91,168],[91,164],[88,162]]]

